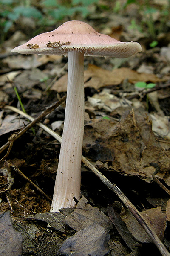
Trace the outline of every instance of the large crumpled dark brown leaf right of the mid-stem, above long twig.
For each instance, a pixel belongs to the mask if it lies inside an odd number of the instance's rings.
[[[97,168],[109,161],[109,170],[139,175],[147,182],[153,180],[155,166],[162,175],[169,171],[170,151],[156,140],[147,113],[139,110],[124,111],[119,122],[91,119],[85,125],[83,151],[97,161]]]

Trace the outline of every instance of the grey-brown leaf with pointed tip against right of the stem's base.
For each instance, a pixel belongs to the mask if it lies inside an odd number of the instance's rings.
[[[92,225],[94,221],[104,227],[105,230],[110,230],[113,227],[110,219],[98,208],[88,204],[88,200],[84,196],[80,199],[76,209],[64,220],[74,230],[82,230]]]

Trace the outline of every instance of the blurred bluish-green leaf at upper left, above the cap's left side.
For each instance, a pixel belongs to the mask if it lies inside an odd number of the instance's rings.
[[[17,6],[14,8],[14,13],[23,15],[24,17],[34,17],[37,19],[42,18],[42,13],[38,11],[34,6]]]

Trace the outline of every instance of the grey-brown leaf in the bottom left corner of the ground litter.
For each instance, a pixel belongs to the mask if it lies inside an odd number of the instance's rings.
[[[23,237],[17,232],[11,221],[10,212],[0,215],[0,255],[19,256],[22,254]]]

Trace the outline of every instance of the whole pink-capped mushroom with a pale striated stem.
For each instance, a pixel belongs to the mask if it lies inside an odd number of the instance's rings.
[[[142,50],[136,42],[120,42],[96,32],[85,22],[72,20],[35,36],[11,52],[68,56],[65,121],[51,212],[74,207],[80,198],[84,132],[84,55],[126,58]]]

